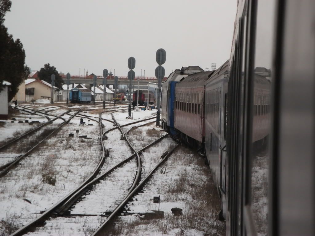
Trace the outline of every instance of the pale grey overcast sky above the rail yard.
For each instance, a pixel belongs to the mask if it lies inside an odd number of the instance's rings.
[[[63,73],[154,76],[156,51],[166,50],[165,76],[182,66],[217,68],[230,56],[237,0],[11,0],[4,25],[20,38],[26,64],[50,63]]]

